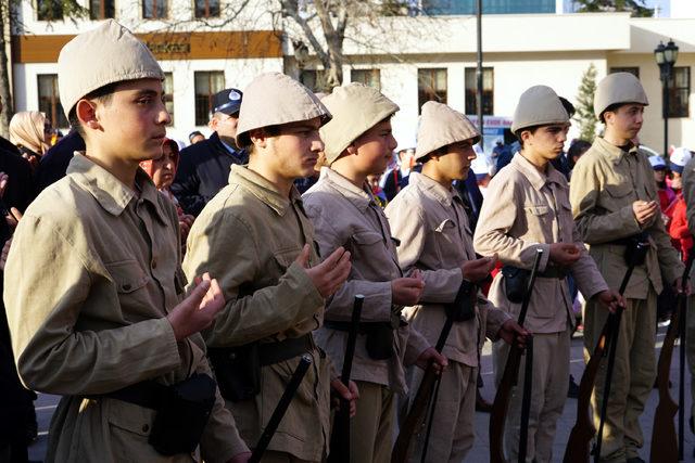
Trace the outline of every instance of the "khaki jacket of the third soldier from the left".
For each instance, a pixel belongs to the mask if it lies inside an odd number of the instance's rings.
[[[323,256],[344,246],[352,254],[348,281],[326,307],[326,319],[350,321],[354,296],[365,296],[363,322],[390,322],[401,308],[391,304],[391,281],[402,276],[389,222],[368,187],[361,189],[328,167],[321,168],[318,182],[304,193],[307,215],[316,228]],[[397,323],[396,323],[397,324]],[[348,332],[323,327],[317,342],[342,368]],[[367,353],[366,335],[357,337],[352,378],[388,386],[405,393],[403,362],[414,363],[429,343],[407,324],[396,329],[396,355],[374,360]]]

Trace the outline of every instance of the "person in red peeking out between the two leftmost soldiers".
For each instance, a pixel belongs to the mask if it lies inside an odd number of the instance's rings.
[[[176,205],[176,210],[178,210],[178,223],[181,229],[181,246],[184,246],[185,250],[186,239],[188,237],[188,232],[195,218],[184,213],[184,209],[179,206],[176,196],[174,196],[169,190],[169,187],[176,177],[178,159],[179,149],[176,141],[172,139],[164,139],[162,142],[162,155],[156,159],[141,162],[140,167],[148,176],[150,176],[160,193],[168,197]]]

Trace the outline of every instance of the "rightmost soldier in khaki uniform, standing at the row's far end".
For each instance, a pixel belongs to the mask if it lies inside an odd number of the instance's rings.
[[[627,310],[620,322],[602,442],[605,461],[642,461],[637,455],[644,441],[639,419],[656,377],[656,297],[664,284],[675,284],[683,272],[683,262],[664,229],[648,157],[631,142],[640,132],[647,104],[644,89],[632,74],[611,74],[598,83],[594,111],[605,123],[606,132],[596,137],[577,163],[570,188],[577,228],[611,287],[620,285],[627,270],[626,241],[645,232],[650,243],[645,263],[634,269],[624,293]],[[606,318],[595,301],[586,304],[585,357],[593,351]],[[596,423],[604,372],[602,369],[596,377],[592,398]]]

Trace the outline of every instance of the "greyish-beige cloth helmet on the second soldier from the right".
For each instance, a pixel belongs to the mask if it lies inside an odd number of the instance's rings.
[[[555,90],[546,86],[534,86],[519,97],[514,111],[511,132],[518,133],[528,127],[566,123],[569,123],[569,115]]]

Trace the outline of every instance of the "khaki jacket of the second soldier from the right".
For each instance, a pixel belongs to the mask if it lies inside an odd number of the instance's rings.
[[[548,262],[549,245],[573,243],[581,257],[568,270],[584,297],[589,299],[608,288],[574,227],[567,181],[551,164],[543,175],[520,154],[514,156],[490,182],[486,197],[473,240],[478,253],[497,253],[505,265],[531,269],[535,249],[541,248],[539,270],[553,272],[563,269]],[[489,297],[509,313],[517,314],[521,308],[507,299],[502,272],[495,276]],[[574,323],[571,310],[567,279],[539,278],[525,326],[533,333],[559,333],[567,330],[568,322]]]

